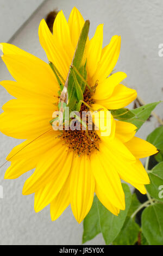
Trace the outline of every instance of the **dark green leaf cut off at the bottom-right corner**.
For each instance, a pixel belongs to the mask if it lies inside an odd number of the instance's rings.
[[[163,204],[153,204],[142,212],[142,232],[149,245],[163,245]]]

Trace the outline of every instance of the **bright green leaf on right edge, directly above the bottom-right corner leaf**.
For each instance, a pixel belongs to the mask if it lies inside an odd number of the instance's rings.
[[[163,162],[148,171],[151,184],[146,185],[149,194],[155,199],[163,202]],[[162,213],[163,214],[163,213]]]

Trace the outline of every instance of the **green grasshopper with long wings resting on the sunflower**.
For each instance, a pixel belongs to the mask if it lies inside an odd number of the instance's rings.
[[[90,22],[89,20],[87,20],[85,21],[82,32],[80,33],[78,44],[74,52],[74,56],[70,65],[70,69],[68,71],[66,81],[64,81],[64,78],[62,78],[60,72],[54,66],[54,64],[52,62],[49,63],[55,77],[57,78],[61,90],[61,92],[59,92],[60,98],[58,104],[60,114],[59,117],[54,118],[50,121],[51,124],[53,124],[53,121],[59,121],[59,124],[61,124],[61,122],[64,120],[66,106],[70,107],[71,111],[80,110],[82,103],[85,103],[83,101],[85,86],[87,86],[91,90],[91,92],[93,92],[92,88],[85,80],[86,62],[84,65],[82,65],[87,35],[89,33],[89,27]],[[80,86],[79,83],[82,83],[82,86]],[[87,104],[85,103],[85,105]],[[74,116],[78,121],[80,121],[81,124],[84,125],[84,127],[86,126],[86,124],[77,115],[75,115],[75,112]]]

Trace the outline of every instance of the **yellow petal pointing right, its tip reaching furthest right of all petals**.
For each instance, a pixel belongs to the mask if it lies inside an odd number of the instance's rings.
[[[137,137],[132,138],[130,141],[125,143],[125,145],[137,159],[158,153],[158,150],[154,145]]]

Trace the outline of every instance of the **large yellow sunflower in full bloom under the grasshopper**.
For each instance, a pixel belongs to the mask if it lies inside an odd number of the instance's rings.
[[[53,34],[45,20],[40,22],[40,44],[66,80],[84,19],[73,8],[68,19],[60,11]],[[86,43],[87,83],[84,100],[93,109],[119,109],[136,98],[136,91],[121,84],[124,72],[111,74],[120,54],[121,37],[115,35],[102,48],[103,25]],[[111,117],[111,133],[96,131],[54,131],[49,121],[57,111],[58,82],[51,67],[41,59],[11,44],[1,44],[2,59],[16,81],[1,85],[16,99],[5,103],[0,115],[0,130],[7,136],[26,139],[12,149],[7,160],[11,166],[5,179],[16,179],[28,170],[23,194],[35,194],[36,212],[50,204],[52,221],[71,204],[80,223],[89,212],[94,193],[112,214],[125,209],[121,179],[145,194],[149,178],[140,158],[157,153],[156,148],[135,137],[136,126]],[[82,105],[81,109],[84,109]]]

